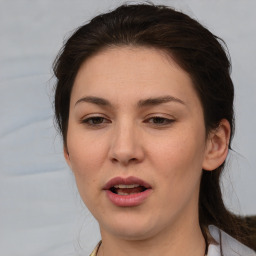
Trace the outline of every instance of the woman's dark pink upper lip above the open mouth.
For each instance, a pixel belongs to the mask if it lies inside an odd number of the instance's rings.
[[[131,184],[138,184],[140,186],[143,186],[145,188],[151,188],[151,186],[145,182],[144,180],[142,179],[139,179],[137,177],[134,177],[134,176],[130,176],[130,177],[115,177],[111,180],[109,180],[106,185],[103,187],[104,190],[108,190],[112,187],[114,187],[115,185],[120,185],[120,184],[123,184],[123,185],[131,185]]]

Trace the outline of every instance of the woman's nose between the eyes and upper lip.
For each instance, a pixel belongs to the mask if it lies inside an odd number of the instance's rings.
[[[144,159],[142,138],[135,124],[124,122],[117,125],[112,132],[109,156],[113,163],[127,166]]]

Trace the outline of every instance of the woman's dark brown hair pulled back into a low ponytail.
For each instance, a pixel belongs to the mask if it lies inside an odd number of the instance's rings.
[[[100,50],[122,45],[154,47],[171,55],[193,81],[203,106],[207,133],[225,118],[230,123],[232,138],[234,88],[225,43],[181,12],[162,5],[139,4],[122,5],[93,18],[75,31],[57,56],[55,115],[64,146],[70,94],[79,67]],[[212,172],[203,170],[199,196],[201,230],[207,241],[208,225],[213,224],[252,247],[249,228],[223,203],[220,188],[223,168],[224,163]]]

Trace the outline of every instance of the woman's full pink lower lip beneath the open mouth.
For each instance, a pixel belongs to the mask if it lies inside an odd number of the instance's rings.
[[[105,190],[108,199],[116,206],[131,207],[142,204],[148,196],[151,194],[152,189],[146,189],[145,191],[132,195],[118,195],[110,190]]]

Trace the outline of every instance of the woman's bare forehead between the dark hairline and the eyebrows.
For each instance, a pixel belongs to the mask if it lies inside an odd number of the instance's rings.
[[[88,95],[122,103],[166,94],[188,102],[197,98],[189,75],[171,56],[154,48],[111,47],[81,65],[71,104]]]

